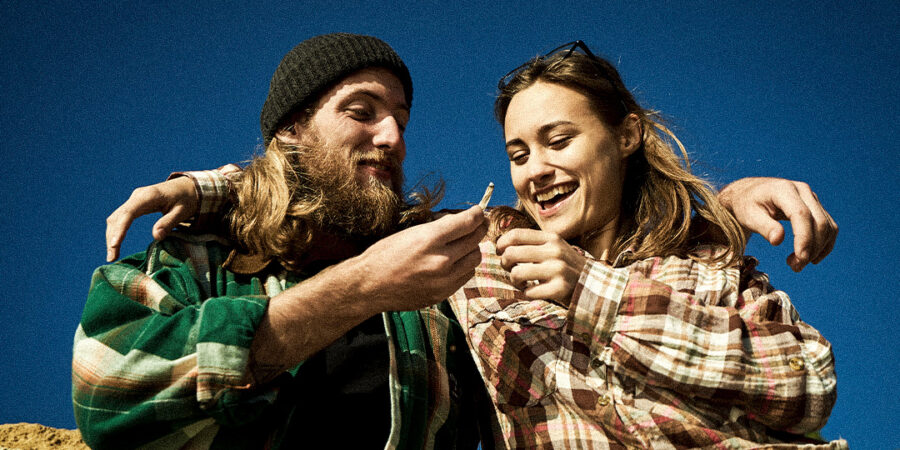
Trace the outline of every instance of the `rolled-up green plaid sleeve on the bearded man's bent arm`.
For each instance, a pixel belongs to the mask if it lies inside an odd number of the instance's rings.
[[[75,416],[93,448],[183,443],[274,402],[277,387],[247,374],[268,298],[232,292],[239,284],[204,260],[221,249],[186,245],[170,238],[94,273],[72,363]],[[173,254],[183,248],[191,258]]]

